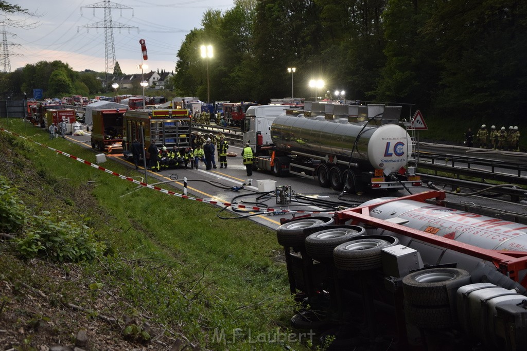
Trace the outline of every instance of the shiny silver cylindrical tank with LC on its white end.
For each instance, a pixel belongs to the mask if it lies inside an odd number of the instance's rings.
[[[332,163],[351,161],[383,169],[385,175],[406,166],[413,152],[410,136],[397,124],[368,126],[324,116],[282,114],[272,123],[271,139],[282,151],[326,157]]]

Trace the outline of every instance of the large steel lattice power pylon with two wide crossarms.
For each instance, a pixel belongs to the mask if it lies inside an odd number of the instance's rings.
[[[139,33],[139,27],[135,26],[129,26],[125,25],[119,22],[112,22],[112,8],[119,8],[122,15],[122,10],[124,9],[131,9],[132,10],[132,16],[133,16],[133,8],[121,4],[116,4],[111,2],[110,0],[104,0],[99,3],[82,6],[81,7],[81,15],[82,15],[82,8],[93,8],[93,15],[95,16],[95,9],[96,8],[104,8],[104,21],[99,21],[95,23],[90,23],[84,26],[77,27],[77,32],[79,32],[79,28],[86,28],[86,32],[89,31],[89,28],[104,28],[104,54],[106,56],[106,71],[105,71],[105,79],[104,79],[104,86],[108,85],[108,74],[113,74],[113,68],[115,65],[115,43],[113,42],[113,28],[118,28],[119,33],[121,33],[122,28],[128,29],[128,33],[130,33],[130,29],[137,29],[137,32]],[[97,33],[99,31],[97,30]]]

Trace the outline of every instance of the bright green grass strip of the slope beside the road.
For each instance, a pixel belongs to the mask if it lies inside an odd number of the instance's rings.
[[[91,149],[61,138],[50,141],[45,131],[19,120],[6,123],[0,121],[9,131],[95,162]],[[148,310],[154,320],[181,330],[202,348],[255,346],[243,343],[240,334],[235,338],[237,328],[253,336],[276,333],[277,327],[288,332],[294,302],[285,264],[277,259],[282,248],[274,230],[248,219],[219,219],[219,207],[209,204],[146,188],[132,192],[136,185],[131,182],[4,132],[0,142],[15,154],[14,165],[1,173],[20,189],[32,213],[84,217],[108,247],[97,262],[81,266],[93,282],[118,290],[128,314]],[[103,166],[137,175],[116,162]],[[2,260],[0,270],[8,264]],[[214,340],[222,330],[225,338]]]

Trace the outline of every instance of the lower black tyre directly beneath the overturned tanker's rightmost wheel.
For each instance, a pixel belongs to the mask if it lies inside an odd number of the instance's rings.
[[[405,302],[404,316],[409,324],[425,329],[451,328],[454,322],[450,306],[422,307]]]

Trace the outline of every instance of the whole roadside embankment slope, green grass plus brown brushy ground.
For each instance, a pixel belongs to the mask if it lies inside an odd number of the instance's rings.
[[[12,119],[0,125],[95,162],[90,149],[62,138],[50,141],[40,128]],[[284,343],[268,341],[289,332],[294,303],[273,230],[247,219],[219,219],[218,207],[208,204],[146,188],[132,192],[136,185],[131,182],[5,132],[0,132],[0,148],[0,177],[17,188],[28,217],[44,216],[55,225],[84,223],[103,249],[95,259],[70,263],[57,260],[49,248],[33,247],[35,252],[26,256],[36,258],[24,259],[21,240],[36,229],[28,229],[28,223],[14,229],[18,245],[15,240],[0,245],[0,280],[6,283],[0,286],[0,329],[15,321],[18,332],[9,334],[16,342],[3,347],[52,346],[84,328],[93,349],[110,348],[107,341],[96,341],[106,334],[115,348],[143,343],[163,349],[187,337],[184,342],[204,349],[283,349]],[[104,167],[138,175],[116,162]],[[66,242],[67,235],[51,240]],[[36,242],[24,245],[31,248]],[[84,242],[69,243],[79,245],[74,252],[84,252]],[[35,300],[43,308],[35,309]],[[24,310],[23,302],[33,304],[31,311]],[[73,312],[80,315],[71,317]],[[39,327],[28,326],[35,319]],[[93,324],[113,319],[113,324]],[[259,344],[249,344],[257,337]]]

